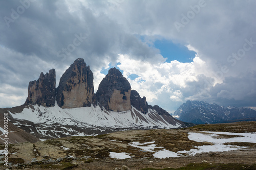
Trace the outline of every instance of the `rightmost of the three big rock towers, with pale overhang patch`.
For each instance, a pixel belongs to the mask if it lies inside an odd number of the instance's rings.
[[[100,82],[96,96],[99,106],[106,110],[131,109],[131,85],[115,67],[111,68],[108,75]]]

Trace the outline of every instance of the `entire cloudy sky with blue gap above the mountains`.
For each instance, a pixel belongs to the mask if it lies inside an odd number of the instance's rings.
[[[148,104],[256,106],[256,1],[0,1],[0,108],[83,58],[95,93],[118,68]]]

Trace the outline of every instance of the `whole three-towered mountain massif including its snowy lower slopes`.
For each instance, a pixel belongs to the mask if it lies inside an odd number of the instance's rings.
[[[29,82],[24,105],[0,109],[8,113],[9,142],[35,142],[65,136],[87,136],[119,130],[180,128],[186,124],[141,98],[121,72],[111,68],[94,93],[93,72],[78,58],[56,88],[55,69]],[[1,121],[3,119],[1,118]],[[1,122],[0,121],[0,122]],[[0,142],[4,141],[0,124]]]

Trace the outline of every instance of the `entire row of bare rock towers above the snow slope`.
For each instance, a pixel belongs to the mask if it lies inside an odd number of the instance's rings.
[[[93,72],[83,59],[78,58],[65,71],[55,89],[55,70],[40,75],[37,81],[29,83],[29,95],[26,104],[38,104],[46,107],[54,106],[55,99],[61,108],[87,107],[92,104],[110,111],[127,111],[134,106],[143,114],[153,109],[159,115],[169,115],[159,106],[151,106],[145,96],[140,97],[136,90],[131,90],[130,83],[122,73],[111,68],[94,93]]]

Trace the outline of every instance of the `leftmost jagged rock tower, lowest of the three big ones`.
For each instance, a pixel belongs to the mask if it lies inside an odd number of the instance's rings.
[[[29,82],[28,98],[26,104],[38,104],[45,107],[51,107],[55,105],[55,91],[56,88],[56,75],[55,69],[49,70],[44,75],[41,72],[37,81]]]

